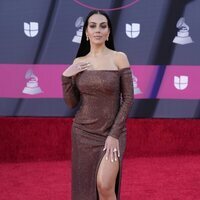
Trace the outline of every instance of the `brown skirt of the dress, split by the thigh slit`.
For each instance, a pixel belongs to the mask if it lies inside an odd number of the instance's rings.
[[[105,155],[105,151],[103,151],[105,138],[97,139],[94,135],[76,127],[73,127],[72,134],[72,199],[98,200],[97,173]],[[118,200],[120,199],[122,160],[126,142],[125,136],[124,134],[119,139],[121,155],[115,184],[115,193]],[[94,141],[98,141],[98,144]],[[89,144],[90,142],[92,144]],[[95,145],[97,146],[95,147]],[[86,146],[90,146],[89,148],[96,149],[96,151],[90,151],[88,153],[87,149],[85,149]],[[87,155],[80,156],[80,154],[84,154],[85,152],[87,152]]]

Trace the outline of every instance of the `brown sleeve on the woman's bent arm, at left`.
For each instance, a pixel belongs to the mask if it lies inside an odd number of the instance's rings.
[[[65,103],[74,108],[80,101],[80,93],[76,87],[74,77],[62,75],[62,89]]]

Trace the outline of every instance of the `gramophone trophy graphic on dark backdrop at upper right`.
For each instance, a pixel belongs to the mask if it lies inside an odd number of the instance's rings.
[[[185,23],[185,19],[181,17],[176,27],[179,29],[177,36],[174,38],[173,43],[176,44],[190,44],[193,43],[192,38],[189,36],[189,26]]]

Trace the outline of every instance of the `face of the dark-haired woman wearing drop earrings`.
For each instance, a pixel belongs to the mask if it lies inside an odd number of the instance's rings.
[[[108,40],[109,33],[108,21],[104,15],[94,14],[88,19],[86,36],[88,36],[90,43],[105,43]]]

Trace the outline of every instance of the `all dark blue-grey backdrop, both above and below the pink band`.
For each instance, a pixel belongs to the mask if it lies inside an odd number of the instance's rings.
[[[115,8],[133,1],[80,2],[99,8]],[[108,11],[113,22],[116,49],[127,53],[133,65],[199,67],[199,8],[199,0],[137,0],[126,9]],[[73,0],[1,0],[0,64],[70,64],[79,46],[72,42],[80,28],[75,22],[78,17],[83,17],[84,21],[89,11]],[[172,42],[181,17],[185,18],[194,41],[188,45]],[[25,36],[24,22],[39,23],[36,37]],[[140,34],[136,38],[126,35],[126,24],[131,23],[140,24]],[[162,77],[157,78],[162,80]],[[159,85],[155,87],[159,88]],[[0,99],[1,116],[73,116],[75,111],[66,108],[62,99]],[[199,113],[198,99],[137,99],[130,116],[193,118],[199,117]]]

